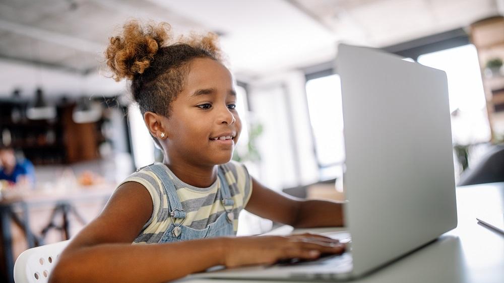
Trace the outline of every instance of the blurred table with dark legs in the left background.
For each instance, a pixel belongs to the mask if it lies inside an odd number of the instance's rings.
[[[0,276],[0,281],[7,280],[14,282],[14,261],[12,250],[11,223],[15,223],[23,230],[28,248],[43,245],[45,233],[56,227],[53,224],[55,217],[62,217],[61,229],[65,233],[65,240],[70,239],[69,214],[74,214],[77,219],[84,222],[84,219],[75,210],[74,204],[86,201],[102,201],[105,203],[113,192],[114,186],[100,185],[90,188],[76,188],[69,190],[29,190],[14,194],[0,200],[0,225],[2,231],[3,253],[2,259],[5,266],[5,274]],[[42,237],[36,235],[30,229],[30,208],[50,205],[53,212],[48,225],[42,231]],[[21,217],[19,217],[21,213]]]

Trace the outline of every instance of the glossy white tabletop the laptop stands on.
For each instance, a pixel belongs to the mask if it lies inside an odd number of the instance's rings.
[[[458,212],[456,229],[443,234],[437,241],[424,248],[352,282],[504,282],[504,235],[476,221],[476,217],[482,211],[490,210],[497,213],[504,211],[504,183],[464,186],[458,187],[456,191]],[[336,230],[322,228],[309,231]],[[282,227],[276,232],[288,234],[292,232],[292,228]],[[177,280],[190,283],[217,281],[188,278]],[[226,280],[226,282],[244,281]]]

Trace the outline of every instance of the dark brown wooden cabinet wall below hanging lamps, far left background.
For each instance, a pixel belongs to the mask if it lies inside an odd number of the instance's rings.
[[[103,120],[78,124],[74,103],[56,106],[53,120],[29,120],[27,101],[0,100],[0,143],[10,144],[35,165],[68,164],[100,157]]]

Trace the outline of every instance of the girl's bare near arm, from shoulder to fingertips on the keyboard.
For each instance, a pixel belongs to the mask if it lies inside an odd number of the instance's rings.
[[[138,183],[124,183],[102,213],[61,253],[49,281],[162,282],[215,265],[268,264],[344,250],[335,241],[313,235],[132,245],[151,214],[148,191]]]

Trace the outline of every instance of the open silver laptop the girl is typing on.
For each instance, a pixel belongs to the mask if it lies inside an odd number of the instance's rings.
[[[338,46],[336,71],[342,86],[348,252],[311,262],[192,276],[347,280],[457,226],[445,72],[379,49],[346,44]]]

